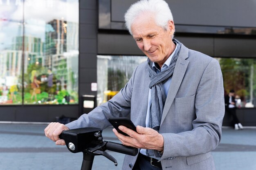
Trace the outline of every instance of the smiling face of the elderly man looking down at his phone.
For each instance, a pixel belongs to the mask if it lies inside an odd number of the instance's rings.
[[[160,67],[175,49],[171,38],[174,33],[173,21],[169,21],[168,29],[164,30],[153,17],[144,14],[132,23],[131,31],[139,49]]]

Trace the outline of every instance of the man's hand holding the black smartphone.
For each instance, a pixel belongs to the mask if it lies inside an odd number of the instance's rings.
[[[153,149],[162,151],[164,150],[164,137],[152,128],[144,128],[137,126],[137,132],[126,128],[125,126],[119,126],[119,129],[125,132],[129,136],[124,136],[117,132],[114,128],[113,132],[126,146],[132,146],[135,148]]]

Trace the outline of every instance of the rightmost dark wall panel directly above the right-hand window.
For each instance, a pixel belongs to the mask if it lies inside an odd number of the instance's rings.
[[[216,57],[256,57],[256,39],[215,38]]]

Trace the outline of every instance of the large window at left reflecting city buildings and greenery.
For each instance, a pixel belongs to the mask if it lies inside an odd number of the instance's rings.
[[[79,0],[0,0],[0,104],[77,104],[78,49]]]

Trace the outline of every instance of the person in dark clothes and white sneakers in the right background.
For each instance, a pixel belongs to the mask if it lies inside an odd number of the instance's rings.
[[[243,129],[243,125],[240,123],[238,117],[236,116],[236,100],[234,90],[230,90],[229,94],[225,96],[225,111],[231,115],[234,129]]]

